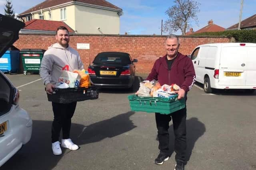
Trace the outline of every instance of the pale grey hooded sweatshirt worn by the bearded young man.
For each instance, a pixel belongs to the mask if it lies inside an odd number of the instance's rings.
[[[75,49],[62,47],[55,43],[48,47],[44,53],[40,66],[40,76],[46,85],[47,83],[56,84],[61,76],[61,70],[81,70],[83,63]]]

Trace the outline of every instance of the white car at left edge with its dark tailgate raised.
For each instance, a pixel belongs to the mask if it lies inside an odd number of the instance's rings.
[[[21,21],[0,14],[0,60],[19,38],[18,33],[24,25]],[[19,97],[19,90],[0,71],[0,166],[31,138],[32,119],[19,106]]]

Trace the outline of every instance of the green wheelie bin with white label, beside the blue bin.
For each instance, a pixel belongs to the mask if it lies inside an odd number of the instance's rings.
[[[45,51],[44,49],[22,49],[20,51],[24,75],[27,75],[28,72],[39,73]]]

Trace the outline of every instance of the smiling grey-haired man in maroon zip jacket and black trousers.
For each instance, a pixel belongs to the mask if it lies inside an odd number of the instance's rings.
[[[160,57],[146,80],[158,80],[162,85],[177,84],[180,90],[177,91],[178,99],[185,98],[187,92],[192,88],[195,81],[195,70],[192,60],[178,52],[179,39],[176,35],[168,35],[165,43],[166,55]],[[172,114],[155,113],[156,127],[158,129],[158,149],[160,153],[154,163],[161,165],[169,159],[169,122],[172,120],[175,141],[174,151],[176,152],[176,165],[174,170],[184,170],[186,163],[186,107]]]

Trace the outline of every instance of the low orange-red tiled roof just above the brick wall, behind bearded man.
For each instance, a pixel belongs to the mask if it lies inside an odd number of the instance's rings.
[[[50,21],[50,20],[30,20],[25,23],[26,26],[23,29],[40,30],[40,31],[56,31],[59,26],[64,26],[68,29],[68,32],[74,33],[75,31],[69,27],[63,21]]]

